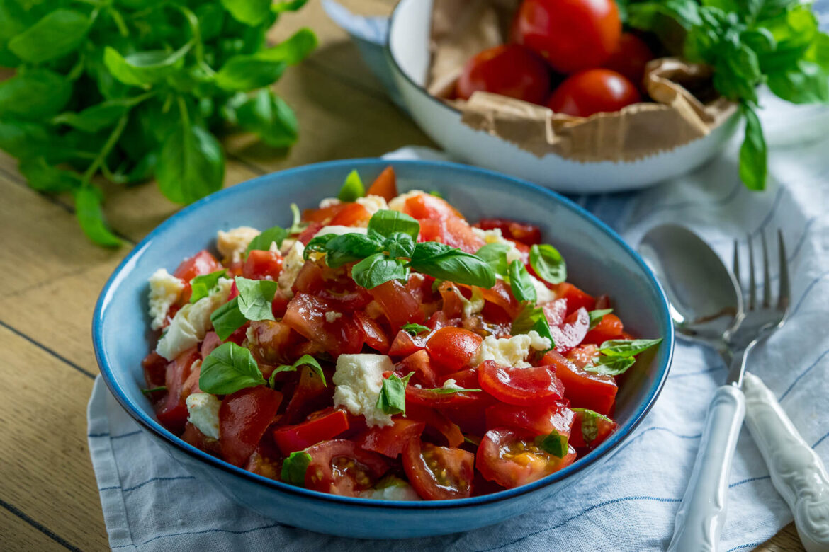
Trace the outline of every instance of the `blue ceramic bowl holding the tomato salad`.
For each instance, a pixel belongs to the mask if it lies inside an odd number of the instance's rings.
[[[439,502],[389,502],[337,497],[292,487],[225,463],[178,439],[155,419],[141,394],[141,359],[153,347],[147,314],[147,279],[158,267],[172,271],[183,257],[212,247],[216,230],[290,224],[289,204],[315,207],[332,197],[356,169],[371,181],[394,166],[400,191],[438,190],[470,220],[505,217],[539,224],[545,241],[567,260],[569,280],[608,294],[632,334],[663,338],[628,371],[618,392],[618,430],[574,464],[524,487],[483,497]],[[278,521],[332,535],[407,538],[443,535],[495,524],[529,510],[607,460],[656,401],[667,377],[674,334],[667,300],[636,252],[604,223],[560,195],[453,163],[362,159],[331,161],[266,175],[212,194],[173,215],[133,249],[109,278],[92,324],[95,355],[109,390],[161,448],[196,478],[240,504]],[[390,534],[389,528],[397,531]]]

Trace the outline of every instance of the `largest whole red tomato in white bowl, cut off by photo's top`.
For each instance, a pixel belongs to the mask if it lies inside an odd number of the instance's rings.
[[[511,34],[553,69],[575,73],[608,60],[618,46],[622,22],[613,0],[524,0]]]

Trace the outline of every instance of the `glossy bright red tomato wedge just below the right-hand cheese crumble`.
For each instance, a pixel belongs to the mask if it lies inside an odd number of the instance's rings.
[[[565,391],[550,367],[504,367],[492,360],[478,366],[478,382],[498,401],[518,406],[550,404]]]

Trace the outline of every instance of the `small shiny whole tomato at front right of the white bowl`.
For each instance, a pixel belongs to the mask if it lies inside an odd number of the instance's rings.
[[[547,107],[555,113],[589,117],[612,113],[642,99],[636,86],[622,74],[609,69],[576,73],[555,89]]]

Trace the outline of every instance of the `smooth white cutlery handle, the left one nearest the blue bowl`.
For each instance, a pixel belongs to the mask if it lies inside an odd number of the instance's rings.
[[[739,387],[721,386],[711,401],[700,449],[685,496],[676,512],[669,552],[713,552],[725,524],[731,458],[745,415]]]

